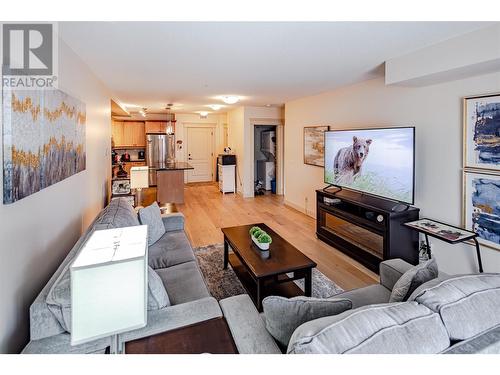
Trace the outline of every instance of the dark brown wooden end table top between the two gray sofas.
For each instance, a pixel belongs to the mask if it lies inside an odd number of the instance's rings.
[[[127,354],[237,354],[226,319],[214,318],[125,343]]]

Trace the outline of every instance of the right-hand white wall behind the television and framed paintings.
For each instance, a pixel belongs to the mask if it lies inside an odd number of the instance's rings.
[[[303,127],[416,127],[416,201],[421,215],[461,224],[462,97],[500,91],[500,73],[411,88],[374,79],[285,105],[285,200],[315,217],[315,189],[323,168],[303,163]],[[435,240],[439,266],[449,273],[476,270],[472,246]],[[485,271],[500,272],[500,252],[482,247]]]

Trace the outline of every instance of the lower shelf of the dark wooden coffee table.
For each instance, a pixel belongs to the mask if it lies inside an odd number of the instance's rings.
[[[250,298],[254,302],[255,306],[257,306],[258,310],[260,303],[257,303],[257,283],[252,278],[250,273],[247,271],[246,267],[241,263],[238,256],[234,253],[229,254],[229,263],[234,270],[236,276],[240,280],[241,284],[247,291]],[[297,297],[303,296],[304,291],[300,289],[297,284],[293,282],[293,280],[285,275],[280,275],[278,281],[276,278],[269,278],[261,281],[263,283],[261,290],[261,299],[264,299],[267,296],[282,296],[282,297]]]

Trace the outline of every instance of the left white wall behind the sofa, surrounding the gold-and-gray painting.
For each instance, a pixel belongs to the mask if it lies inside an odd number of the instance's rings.
[[[59,44],[59,88],[87,105],[87,168],[0,205],[2,353],[18,352],[27,343],[31,302],[106,201],[111,94],[64,42]]]

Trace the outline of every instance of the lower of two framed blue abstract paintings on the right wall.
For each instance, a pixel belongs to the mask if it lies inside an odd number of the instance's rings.
[[[482,245],[500,250],[500,175],[464,173],[463,225]]]

